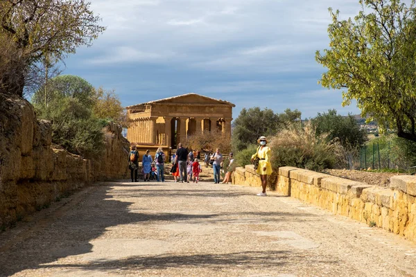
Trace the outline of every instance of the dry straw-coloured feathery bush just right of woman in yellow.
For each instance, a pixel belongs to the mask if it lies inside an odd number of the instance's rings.
[[[341,161],[343,148],[338,141],[329,141],[327,134],[317,135],[315,127],[307,122],[300,127],[287,125],[269,143],[272,167],[295,166],[320,171],[334,168]]]

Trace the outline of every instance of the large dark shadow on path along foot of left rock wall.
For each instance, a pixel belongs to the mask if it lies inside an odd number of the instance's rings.
[[[89,241],[103,235],[108,227],[119,224],[156,220],[195,220],[217,215],[182,213],[146,214],[131,213],[133,202],[112,199],[109,191],[113,184],[105,183],[90,190],[82,190],[69,198],[51,215],[40,218],[26,230],[10,229],[1,239],[10,238],[0,248],[0,276],[9,276],[24,269],[42,267],[60,258],[92,252]],[[24,224],[24,223],[22,223]],[[13,234],[15,232],[17,235]],[[6,250],[4,250],[6,249]]]

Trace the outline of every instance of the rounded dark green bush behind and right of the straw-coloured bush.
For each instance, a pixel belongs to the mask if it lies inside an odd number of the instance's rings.
[[[316,128],[316,135],[328,134],[328,139],[338,139],[344,147],[361,146],[367,141],[365,130],[360,129],[354,116],[341,116],[335,109],[329,109],[328,113],[320,114],[312,119]]]

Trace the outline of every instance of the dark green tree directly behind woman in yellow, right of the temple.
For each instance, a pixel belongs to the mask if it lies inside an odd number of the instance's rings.
[[[252,143],[256,143],[259,136],[271,136],[279,128],[295,120],[300,120],[300,111],[286,109],[283,114],[275,114],[272,109],[254,107],[243,108],[239,117],[234,120],[232,146],[234,152],[243,150]]]

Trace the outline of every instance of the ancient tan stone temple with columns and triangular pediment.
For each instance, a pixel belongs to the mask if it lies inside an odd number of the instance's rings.
[[[187,136],[214,128],[231,134],[232,107],[231,102],[196,93],[132,105],[127,107],[132,120],[127,139],[150,150],[175,149]]]

